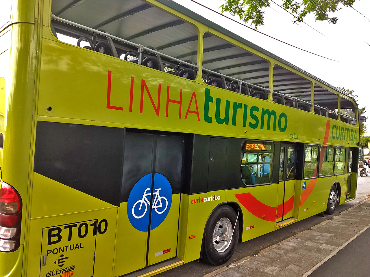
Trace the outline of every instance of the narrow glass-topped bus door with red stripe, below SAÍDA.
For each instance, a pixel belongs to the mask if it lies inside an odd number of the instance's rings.
[[[295,172],[295,144],[281,144],[279,163],[278,207],[276,221],[282,221],[293,216]]]

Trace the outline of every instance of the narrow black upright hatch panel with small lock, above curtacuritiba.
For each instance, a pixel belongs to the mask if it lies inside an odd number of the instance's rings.
[[[194,135],[191,194],[207,192],[210,136]]]

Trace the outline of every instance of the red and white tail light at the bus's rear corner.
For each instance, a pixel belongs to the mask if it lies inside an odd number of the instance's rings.
[[[0,252],[13,252],[19,248],[22,218],[22,201],[11,185],[2,182],[0,187]]]

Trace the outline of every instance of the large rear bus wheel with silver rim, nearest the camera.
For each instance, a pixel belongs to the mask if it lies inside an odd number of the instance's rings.
[[[227,205],[219,207],[211,214],[204,229],[203,261],[218,266],[231,258],[239,239],[239,220],[236,222],[236,217],[235,211]],[[229,242],[221,235],[221,230],[227,233],[226,238],[231,238]]]

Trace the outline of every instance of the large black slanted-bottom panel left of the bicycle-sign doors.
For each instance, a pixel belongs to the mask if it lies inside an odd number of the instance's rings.
[[[37,122],[34,171],[119,205],[124,129]]]

